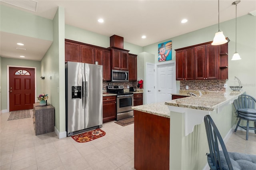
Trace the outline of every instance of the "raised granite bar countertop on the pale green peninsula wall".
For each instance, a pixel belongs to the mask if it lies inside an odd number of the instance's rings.
[[[218,107],[221,107],[230,101],[234,101],[238,98],[239,95],[243,93],[245,93],[245,91],[207,93],[203,94],[202,96],[192,96],[175,99],[172,101],[166,101],[165,105],[186,107],[204,111],[214,111]]]

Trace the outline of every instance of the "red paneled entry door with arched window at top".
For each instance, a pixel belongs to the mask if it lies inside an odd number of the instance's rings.
[[[10,111],[33,109],[35,69],[9,67]]]

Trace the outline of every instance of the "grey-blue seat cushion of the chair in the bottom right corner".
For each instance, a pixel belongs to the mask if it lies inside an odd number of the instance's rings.
[[[234,170],[256,170],[256,155],[237,152],[228,152],[228,155]],[[228,165],[226,164],[225,156],[222,151],[220,151],[220,158],[222,168],[228,170]]]

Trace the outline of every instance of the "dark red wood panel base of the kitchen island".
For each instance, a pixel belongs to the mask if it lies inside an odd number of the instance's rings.
[[[169,170],[170,118],[134,110],[134,168]]]

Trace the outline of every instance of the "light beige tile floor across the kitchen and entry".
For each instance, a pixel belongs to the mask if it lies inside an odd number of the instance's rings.
[[[35,135],[31,118],[7,121],[0,116],[1,170],[134,170],[134,124],[122,127],[104,123],[106,135],[78,143],[71,137],[58,139],[54,132]],[[233,133],[228,140],[230,152],[256,154],[256,135]]]

